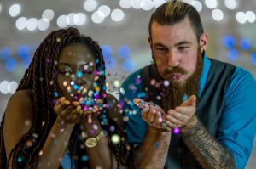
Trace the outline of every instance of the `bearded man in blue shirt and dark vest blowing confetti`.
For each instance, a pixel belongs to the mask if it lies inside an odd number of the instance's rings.
[[[208,35],[188,3],[151,15],[154,64],[120,90],[137,168],[245,168],[253,148],[256,82],[247,71],[208,59]]]

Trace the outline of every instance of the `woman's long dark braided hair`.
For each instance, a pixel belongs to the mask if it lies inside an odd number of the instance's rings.
[[[59,90],[56,80],[57,60],[61,54],[62,48],[73,42],[79,42],[86,45],[95,55],[96,70],[98,72],[103,72],[99,74],[99,78],[96,81],[98,87],[100,87],[99,95],[103,100],[103,104],[107,103],[105,63],[102,57],[102,49],[97,42],[93,41],[90,37],[81,35],[76,28],[72,27],[52,31],[37,48],[32,63],[26,69],[25,75],[22,77],[17,88],[17,91],[32,89],[33,111],[35,115],[33,115],[31,129],[20,138],[19,143],[11,150],[9,158],[6,157],[4,149],[3,115],[0,128],[1,168],[8,168],[9,164],[12,165],[13,168],[26,168],[28,166],[32,168],[37,167],[38,154],[40,149],[42,149],[57,116],[53,110],[53,100],[55,100],[54,93]],[[107,110],[103,110],[103,113],[106,111]],[[106,125],[108,125],[108,122]],[[28,146],[28,141],[31,142],[32,145]],[[119,149],[117,146],[111,147],[113,151]],[[9,163],[10,161],[7,161],[7,159],[10,160],[10,157],[13,158],[11,163]]]

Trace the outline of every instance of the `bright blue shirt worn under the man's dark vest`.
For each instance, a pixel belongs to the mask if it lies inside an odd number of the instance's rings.
[[[204,56],[199,82],[199,97],[207,82],[211,61]],[[124,104],[125,129],[130,144],[141,144],[147,124],[141,118],[141,110],[132,103],[134,98],[145,96],[140,82],[141,70],[125,79],[120,88],[120,102]],[[150,79],[148,79],[148,82]],[[247,71],[236,67],[225,90],[225,105],[218,124],[218,141],[232,151],[236,168],[245,168],[253,149],[256,130],[256,82]]]

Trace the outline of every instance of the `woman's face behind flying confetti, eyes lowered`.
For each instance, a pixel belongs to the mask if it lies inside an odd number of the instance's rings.
[[[61,97],[73,101],[95,91],[96,61],[90,48],[73,43],[61,50],[57,65]]]

